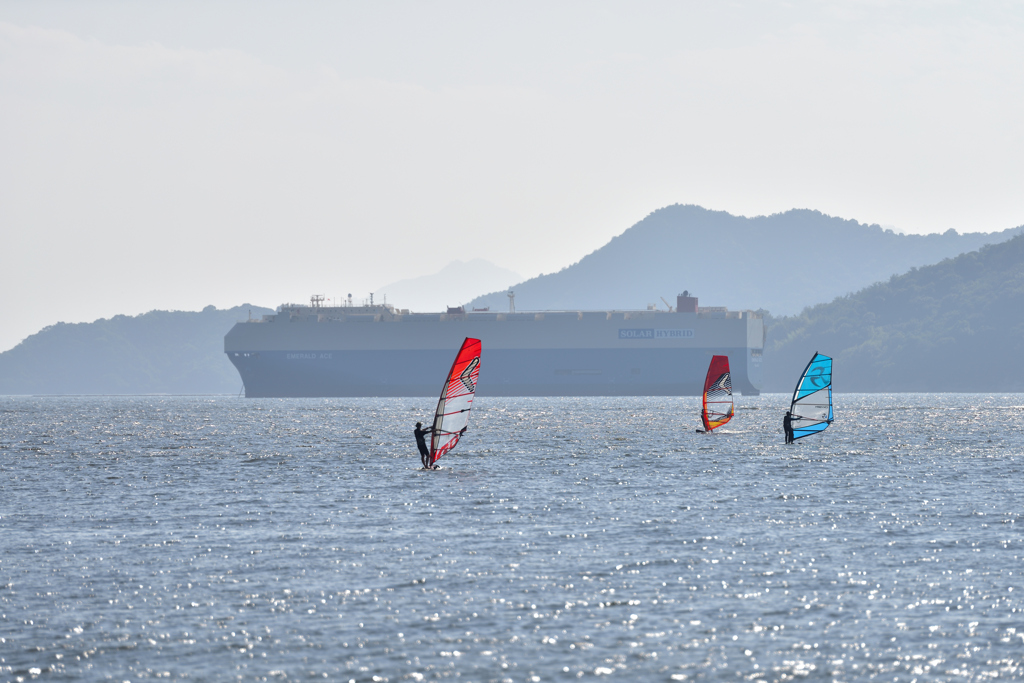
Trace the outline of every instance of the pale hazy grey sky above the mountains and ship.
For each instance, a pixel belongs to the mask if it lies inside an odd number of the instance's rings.
[[[0,350],[549,272],[675,203],[991,231],[1022,188],[1021,2],[0,0]]]

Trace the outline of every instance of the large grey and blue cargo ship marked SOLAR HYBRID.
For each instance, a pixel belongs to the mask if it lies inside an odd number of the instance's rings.
[[[699,308],[680,295],[668,310],[509,312],[389,304],[284,304],[239,323],[224,351],[246,396],[432,396],[466,337],[483,343],[481,396],[699,395],[708,364],[728,355],[732,386],[761,387],[765,327],[754,311]]]

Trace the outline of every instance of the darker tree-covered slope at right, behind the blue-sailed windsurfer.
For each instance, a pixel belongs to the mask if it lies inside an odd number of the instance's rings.
[[[1024,236],[775,318],[764,390],[814,351],[836,391],[1024,391]]]

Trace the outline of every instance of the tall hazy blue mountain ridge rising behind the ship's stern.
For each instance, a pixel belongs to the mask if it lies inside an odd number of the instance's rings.
[[[1022,230],[899,234],[817,211],[744,218],[676,205],[558,272],[517,284],[515,304],[520,310],[644,308],[689,290],[703,306],[794,314]],[[507,291],[470,305],[504,310]]]

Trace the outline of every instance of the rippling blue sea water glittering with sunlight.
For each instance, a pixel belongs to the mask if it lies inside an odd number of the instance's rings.
[[[1024,396],[0,398],[0,680],[1024,678]]]

